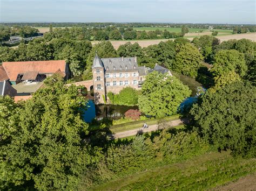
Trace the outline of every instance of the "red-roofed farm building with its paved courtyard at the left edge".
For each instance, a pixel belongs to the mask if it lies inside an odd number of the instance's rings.
[[[54,73],[69,77],[65,60],[3,62],[0,66],[1,95],[28,96]]]

